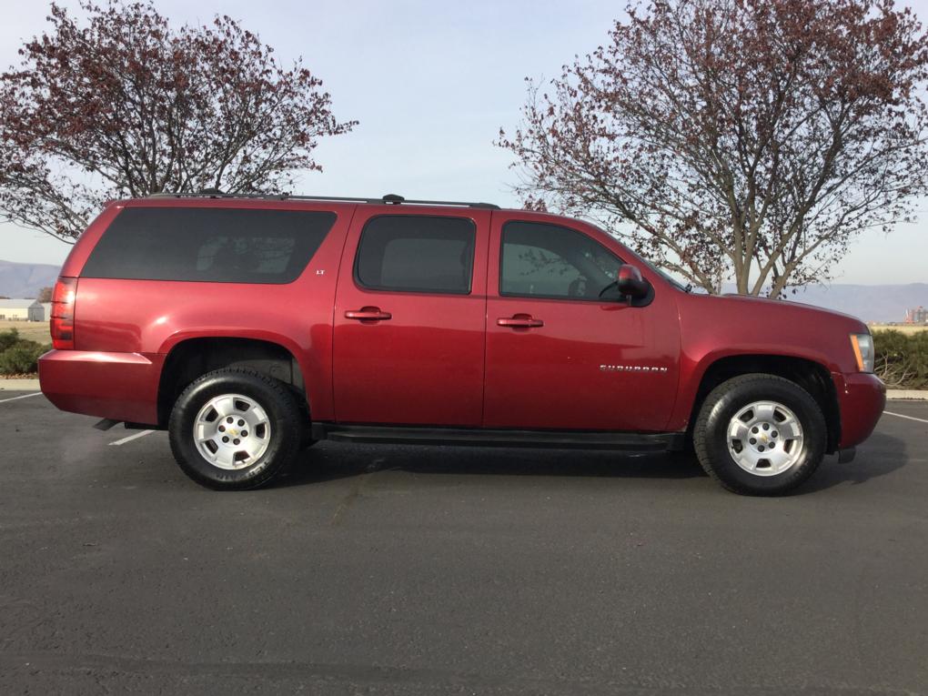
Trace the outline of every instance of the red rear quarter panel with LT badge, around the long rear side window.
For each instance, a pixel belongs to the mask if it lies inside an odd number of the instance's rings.
[[[78,351],[157,354],[164,357],[174,346],[187,339],[243,338],[277,343],[289,350],[300,365],[307,399],[313,404],[314,418],[332,419],[332,304],[335,302],[342,246],[354,205],[234,202],[237,204],[231,205],[224,200],[139,200],[128,201],[125,205],[195,204],[330,210],[338,217],[303,274],[289,284],[81,278],[74,303],[75,348]],[[102,225],[109,225],[122,207],[122,204],[110,206],[88,228],[75,245],[62,273],[66,270],[79,274],[89,255],[89,244],[96,244],[104,229]],[[72,383],[80,379],[87,380],[88,393],[95,391],[96,382],[89,375],[82,378],[78,373],[71,377]],[[160,379],[159,368],[150,375],[147,393],[153,389],[157,397]],[[93,415],[99,414],[94,412]]]

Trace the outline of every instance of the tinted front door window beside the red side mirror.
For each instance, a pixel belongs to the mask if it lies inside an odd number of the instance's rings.
[[[499,294],[598,300],[622,261],[567,227],[511,222],[503,227]],[[607,292],[604,297],[610,297]],[[615,299],[612,294],[611,299]]]

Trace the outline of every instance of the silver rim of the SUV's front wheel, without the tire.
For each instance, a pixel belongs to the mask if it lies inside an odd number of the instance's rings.
[[[728,454],[754,476],[776,476],[803,456],[803,426],[776,401],[755,401],[728,421]]]

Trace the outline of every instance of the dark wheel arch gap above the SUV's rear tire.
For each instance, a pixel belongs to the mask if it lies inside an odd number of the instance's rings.
[[[174,342],[167,350],[158,384],[158,424],[167,425],[177,397],[193,380],[224,367],[247,367],[282,381],[296,393],[309,415],[303,369],[282,342],[243,336],[198,336]]]

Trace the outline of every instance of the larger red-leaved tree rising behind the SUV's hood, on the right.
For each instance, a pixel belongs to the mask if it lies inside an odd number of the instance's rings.
[[[651,0],[529,82],[498,144],[532,205],[599,221],[690,283],[780,296],[909,221],[928,40],[892,0]]]

